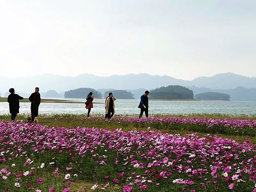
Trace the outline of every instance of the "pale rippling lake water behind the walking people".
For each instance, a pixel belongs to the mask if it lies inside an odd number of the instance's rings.
[[[50,98],[47,98],[50,99]],[[57,99],[57,98],[56,98]],[[59,98],[60,99],[60,98]],[[84,101],[84,99],[65,99]],[[105,103],[105,100],[94,100]],[[139,114],[139,100],[116,100],[116,114]],[[27,108],[27,107],[29,108]],[[104,104],[93,104],[91,113],[105,113]],[[39,113],[87,113],[84,104],[76,103],[41,103]],[[30,103],[20,102],[20,113],[30,112]],[[188,113],[220,113],[220,114],[256,114],[256,102],[246,101],[149,101],[150,114],[188,114]],[[9,113],[9,104],[0,102],[0,114]]]

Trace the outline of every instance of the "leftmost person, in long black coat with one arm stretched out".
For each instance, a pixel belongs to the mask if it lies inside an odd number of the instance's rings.
[[[15,91],[13,88],[9,89],[9,92],[11,94],[8,96],[7,102],[9,103],[10,113],[12,114],[11,119],[14,121],[17,114],[20,113],[20,100],[22,100],[23,97],[20,97],[18,94],[14,94]]]

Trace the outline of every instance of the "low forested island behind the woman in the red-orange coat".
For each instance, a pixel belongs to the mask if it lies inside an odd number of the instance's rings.
[[[94,95],[94,98],[102,98],[102,94],[95,89],[92,88],[78,88],[78,89],[72,89],[69,91],[66,91],[64,93],[64,98],[76,98],[76,99],[84,99],[87,97],[89,92],[92,92]]]

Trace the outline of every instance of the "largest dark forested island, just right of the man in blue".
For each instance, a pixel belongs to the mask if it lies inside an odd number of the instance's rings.
[[[194,94],[192,90],[180,85],[169,85],[151,90],[148,95],[149,99],[164,100],[193,100]]]

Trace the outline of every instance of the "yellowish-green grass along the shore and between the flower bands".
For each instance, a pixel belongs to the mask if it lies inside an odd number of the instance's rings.
[[[246,132],[245,130],[242,130],[244,133],[238,133],[234,132],[233,130],[225,130],[225,129],[211,129],[211,128],[200,128],[195,125],[191,126],[184,126],[184,125],[170,125],[168,124],[167,127],[165,127],[162,124],[133,124],[133,123],[114,123],[114,122],[95,122],[93,119],[95,117],[103,118],[104,114],[93,114],[91,116],[91,119],[86,118],[85,114],[42,114],[39,115],[39,123],[42,125],[48,125],[51,124],[51,126],[63,126],[63,127],[97,127],[97,128],[106,128],[106,129],[122,129],[123,131],[131,131],[131,130],[139,130],[139,131],[146,131],[148,126],[150,126],[152,129],[156,128],[156,130],[160,130],[164,133],[171,133],[171,134],[181,134],[185,136],[187,133],[195,133],[198,132],[198,135],[201,137],[204,137],[207,134],[211,135],[217,135],[218,137],[222,138],[228,138],[228,139],[234,139],[236,141],[245,141],[248,138],[245,137],[245,135],[250,135],[250,129],[249,132]],[[137,117],[138,115],[117,115],[119,117],[124,116],[133,116]],[[152,116],[152,115],[151,115]],[[182,115],[176,114],[176,115],[167,115],[167,114],[156,114],[154,116],[161,116],[161,117],[181,117]],[[16,120],[27,120],[28,115],[27,114],[19,114],[16,117]],[[188,114],[185,116],[188,117],[194,117],[194,118],[214,118],[214,119],[223,119],[223,118],[229,118],[229,119],[256,119],[256,116],[248,116],[248,115],[239,115],[239,116],[233,116],[233,115],[222,115],[222,114]],[[11,116],[10,115],[0,115],[0,119],[4,121],[10,121]],[[240,130],[239,130],[240,131]],[[250,137],[250,140],[252,144],[256,144],[256,137],[255,135]]]

